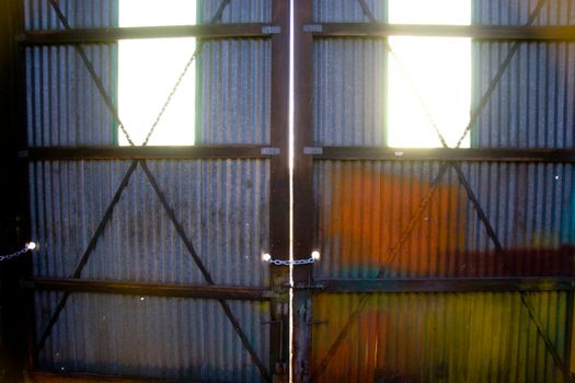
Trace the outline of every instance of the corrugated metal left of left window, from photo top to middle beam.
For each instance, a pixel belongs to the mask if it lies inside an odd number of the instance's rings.
[[[72,28],[117,25],[115,0],[60,1]],[[64,30],[44,0],[24,4],[26,30]],[[89,10],[89,12],[87,12]],[[82,46],[115,97],[117,47]],[[28,146],[110,144],[116,141],[115,124],[80,56],[72,46],[26,48],[26,118]]]

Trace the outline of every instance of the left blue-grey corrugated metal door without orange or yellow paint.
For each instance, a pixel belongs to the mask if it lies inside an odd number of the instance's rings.
[[[34,381],[287,373],[288,270],[262,253],[288,256],[288,1],[197,4],[196,26],[118,28],[115,0],[23,1]],[[117,42],[160,37],[196,48],[139,142]],[[149,144],[191,68],[195,144]]]

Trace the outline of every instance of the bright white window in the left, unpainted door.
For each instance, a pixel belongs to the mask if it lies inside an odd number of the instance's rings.
[[[195,0],[119,1],[119,26],[195,23]],[[195,45],[195,38],[187,37],[119,42],[119,117],[136,144],[143,142]],[[192,65],[148,144],[193,144],[194,120],[195,73]],[[118,131],[118,142],[128,144],[122,131]]]

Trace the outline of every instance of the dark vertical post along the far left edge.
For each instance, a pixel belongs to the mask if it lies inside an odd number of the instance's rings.
[[[23,51],[15,36],[23,30],[23,1],[0,2],[0,120],[2,121],[3,200],[1,202],[0,252],[12,252],[30,240],[27,164],[16,160],[18,148],[26,142]],[[33,293],[20,288],[19,281],[31,274],[30,255],[0,265],[0,306],[2,345],[0,370],[5,382],[23,381],[22,372],[31,367],[26,345],[33,341]],[[27,347],[27,351],[32,351]]]

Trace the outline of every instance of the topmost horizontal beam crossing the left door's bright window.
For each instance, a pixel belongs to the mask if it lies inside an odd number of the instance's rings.
[[[268,37],[279,30],[262,23],[103,27],[62,31],[31,31],[21,34],[16,40],[22,45],[53,44],[106,44],[120,39],[171,38],[171,37]]]

